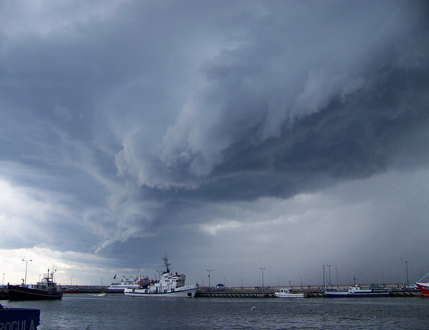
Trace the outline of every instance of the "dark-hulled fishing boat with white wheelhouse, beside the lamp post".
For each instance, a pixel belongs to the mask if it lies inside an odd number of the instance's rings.
[[[43,279],[37,284],[11,285],[8,283],[9,300],[46,300],[61,299],[63,291],[61,286],[53,282],[53,271],[43,274]]]

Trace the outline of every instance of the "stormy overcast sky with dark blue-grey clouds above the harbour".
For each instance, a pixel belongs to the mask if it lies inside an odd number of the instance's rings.
[[[4,283],[419,280],[428,9],[3,0]]]

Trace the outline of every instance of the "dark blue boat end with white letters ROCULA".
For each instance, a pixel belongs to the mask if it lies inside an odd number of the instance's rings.
[[[40,309],[6,308],[0,304],[0,329],[36,330]]]

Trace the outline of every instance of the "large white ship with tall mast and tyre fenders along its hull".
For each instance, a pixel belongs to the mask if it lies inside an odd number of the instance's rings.
[[[124,290],[124,294],[132,297],[194,297],[198,286],[185,286],[185,274],[176,272],[173,275],[170,271],[171,262],[168,261],[167,254],[163,260],[166,270],[159,281],[149,281],[148,277],[142,277],[138,289],[127,288]]]

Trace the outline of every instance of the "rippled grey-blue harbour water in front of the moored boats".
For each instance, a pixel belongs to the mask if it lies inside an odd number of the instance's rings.
[[[1,303],[40,309],[38,330],[429,329],[429,299],[419,297],[190,299],[71,294],[60,301]]]

